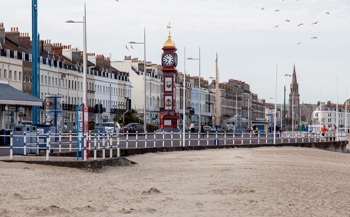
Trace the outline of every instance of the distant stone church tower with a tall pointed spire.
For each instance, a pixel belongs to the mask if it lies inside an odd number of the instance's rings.
[[[291,75],[291,84],[290,84],[290,93],[289,93],[289,106],[288,106],[288,117],[291,117],[293,115],[294,117],[294,124],[296,122],[299,122],[299,86],[296,81],[296,73],[295,73],[295,65],[293,69],[293,74]]]

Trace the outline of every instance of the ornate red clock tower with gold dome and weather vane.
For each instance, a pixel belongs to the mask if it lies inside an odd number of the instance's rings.
[[[169,29],[169,36],[162,48],[161,64],[163,71],[163,108],[164,111],[159,115],[159,131],[180,131],[177,128],[178,115],[175,114],[175,87],[174,79],[177,73],[177,54],[175,43],[170,36],[170,22],[166,26]]]

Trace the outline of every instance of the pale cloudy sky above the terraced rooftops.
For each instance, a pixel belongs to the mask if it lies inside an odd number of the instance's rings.
[[[200,47],[201,77],[215,77],[217,53],[219,82],[245,81],[266,102],[274,103],[276,92],[280,103],[284,85],[288,101],[291,77],[284,74],[293,65],[300,103],[350,98],[348,0],[37,1],[40,39],[51,43],[83,49],[82,23],[65,21],[82,21],[85,2],[88,53],[143,60],[143,44],[128,42],[143,42],[145,32],[146,61],[161,64],[170,22],[179,72],[198,76],[199,61],[185,58],[198,58]],[[0,22],[6,31],[18,27],[31,35],[31,1],[3,0]]]

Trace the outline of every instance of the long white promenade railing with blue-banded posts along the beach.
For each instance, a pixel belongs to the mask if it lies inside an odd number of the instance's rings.
[[[96,151],[102,150],[102,159],[105,159],[105,151],[109,150],[109,157],[112,158],[112,149],[117,149],[117,157],[120,157],[120,144],[123,148],[138,148],[139,144],[143,147],[158,146],[192,146],[192,145],[242,145],[242,144],[261,144],[273,143],[273,133],[259,131],[257,133],[233,133],[226,131],[206,131],[205,133],[185,133],[182,137],[182,132],[152,132],[152,133],[84,133],[83,135],[74,135],[71,131],[69,133],[37,133],[31,132],[22,134],[15,134],[11,132],[10,135],[1,135],[10,137],[10,145],[0,148],[9,148],[9,159],[13,160],[13,150],[18,153],[22,151],[24,155],[29,153],[39,153],[44,150],[46,153],[46,160],[49,160],[49,152],[58,150],[60,153],[64,151],[76,151],[77,160],[79,159],[79,152],[82,160],[88,158],[88,151],[93,150],[93,160],[96,160]],[[18,142],[20,137],[23,137],[23,142]],[[65,141],[62,137],[68,137]],[[45,139],[46,138],[46,141]],[[57,138],[57,139],[56,139]],[[131,138],[131,139],[130,139]],[[58,141],[55,141],[58,140]],[[81,144],[81,141],[83,144]],[[284,131],[282,133],[276,132],[275,143],[294,143],[294,142],[324,142],[324,141],[342,141],[346,140],[346,133],[344,131],[326,132],[324,135],[307,133],[307,132],[292,132]],[[73,142],[76,144],[73,147]],[[66,145],[68,144],[68,145]],[[65,147],[62,147],[64,145]],[[58,146],[58,147],[56,147]]]

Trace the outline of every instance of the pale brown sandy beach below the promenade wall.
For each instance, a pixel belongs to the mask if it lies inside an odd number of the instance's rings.
[[[0,162],[3,216],[350,216],[350,154],[260,147],[157,152],[99,172]]]

